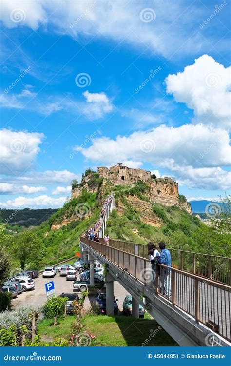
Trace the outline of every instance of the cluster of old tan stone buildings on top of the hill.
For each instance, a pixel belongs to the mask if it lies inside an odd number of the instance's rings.
[[[134,169],[118,163],[111,168],[98,167],[98,173],[112,181],[136,183],[139,180],[148,182],[151,179],[151,172],[144,169]]]

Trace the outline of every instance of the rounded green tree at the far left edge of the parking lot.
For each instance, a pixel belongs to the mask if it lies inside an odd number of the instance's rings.
[[[26,264],[40,266],[45,255],[45,247],[35,233],[26,230],[20,232],[14,238],[13,251],[19,259],[20,267],[25,269]]]

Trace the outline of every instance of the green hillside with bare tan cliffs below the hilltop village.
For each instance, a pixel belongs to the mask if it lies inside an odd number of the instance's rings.
[[[23,256],[26,268],[42,268],[72,257],[79,251],[79,236],[96,223],[105,198],[112,192],[116,207],[107,222],[111,239],[139,244],[164,240],[168,247],[176,249],[231,255],[230,217],[221,216],[208,227],[179,206],[152,202],[146,183],[121,186],[99,178],[97,173],[91,173],[89,182],[79,185],[80,195],[39,226],[18,234],[6,232],[0,244],[9,252],[13,267],[20,266]]]

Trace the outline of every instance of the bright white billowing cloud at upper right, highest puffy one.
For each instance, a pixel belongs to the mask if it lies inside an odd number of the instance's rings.
[[[166,78],[168,93],[194,110],[195,122],[231,128],[231,66],[203,55],[183,72]]]

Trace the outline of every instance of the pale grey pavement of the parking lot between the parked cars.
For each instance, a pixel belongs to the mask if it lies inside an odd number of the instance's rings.
[[[54,278],[42,278],[42,275],[39,275],[39,278],[35,278],[35,288],[33,290],[26,291],[22,294],[19,294],[17,298],[12,299],[12,305],[14,308],[22,307],[22,306],[32,306],[36,310],[40,309],[40,307],[46,302],[46,291],[45,284],[50,281],[54,281],[56,295],[60,295],[62,292],[72,293],[73,292],[73,281],[66,281],[66,277],[60,277],[57,274]],[[78,296],[81,297],[81,293],[77,292]],[[114,282],[114,294],[116,299],[118,299],[118,308],[122,311],[123,300],[128,292],[117,282]],[[94,301],[94,298],[86,298],[84,302],[84,308],[88,309],[90,307],[90,301]]]

